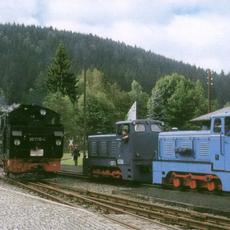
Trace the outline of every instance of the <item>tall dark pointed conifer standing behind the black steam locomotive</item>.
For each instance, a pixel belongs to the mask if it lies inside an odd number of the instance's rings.
[[[71,63],[65,47],[60,44],[48,69],[47,87],[52,93],[60,91],[63,96],[68,95],[71,102],[74,103],[76,101],[76,77],[70,69]]]

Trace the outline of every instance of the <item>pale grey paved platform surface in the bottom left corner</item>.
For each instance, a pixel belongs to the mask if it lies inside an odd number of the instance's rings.
[[[69,207],[16,191],[0,183],[0,229],[123,230],[123,226],[81,207]]]

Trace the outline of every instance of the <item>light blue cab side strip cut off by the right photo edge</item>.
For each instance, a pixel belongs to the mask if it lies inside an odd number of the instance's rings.
[[[223,144],[225,155],[225,170],[230,171],[230,117],[225,117]]]

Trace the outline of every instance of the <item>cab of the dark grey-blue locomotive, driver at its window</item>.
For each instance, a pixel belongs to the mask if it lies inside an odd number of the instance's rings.
[[[117,122],[117,164],[124,180],[151,182],[151,162],[158,148],[161,123],[142,119]]]

